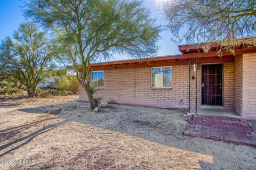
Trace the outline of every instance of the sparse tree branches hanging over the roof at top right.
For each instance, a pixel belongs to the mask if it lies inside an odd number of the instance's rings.
[[[256,36],[255,0],[167,0],[163,11],[173,40],[178,43],[226,40],[224,44],[231,47],[256,42],[234,41]]]

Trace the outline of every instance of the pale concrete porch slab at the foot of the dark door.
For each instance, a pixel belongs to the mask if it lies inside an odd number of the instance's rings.
[[[230,116],[230,117],[239,117],[241,116],[233,110],[227,110],[223,108],[199,108],[197,114],[202,115],[215,115],[215,116]]]

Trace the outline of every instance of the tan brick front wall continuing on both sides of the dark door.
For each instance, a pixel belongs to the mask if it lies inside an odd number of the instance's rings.
[[[191,63],[191,77],[196,77]],[[234,63],[225,63],[224,106],[234,109]],[[188,65],[172,66],[172,88],[151,88],[151,67],[105,70],[103,89],[96,89],[94,97],[108,103],[148,105],[169,108],[188,108]],[[191,80],[191,108],[195,111],[195,84]],[[79,99],[87,101],[85,91],[79,87]],[[201,65],[198,65],[197,106],[201,105]]]

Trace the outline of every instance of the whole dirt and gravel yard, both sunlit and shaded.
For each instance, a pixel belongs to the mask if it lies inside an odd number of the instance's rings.
[[[181,109],[0,97],[0,169],[256,169],[256,148],[182,135]]]

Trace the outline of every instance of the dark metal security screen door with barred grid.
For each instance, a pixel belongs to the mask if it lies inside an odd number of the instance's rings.
[[[222,64],[202,65],[202,105],[222,106]]]

